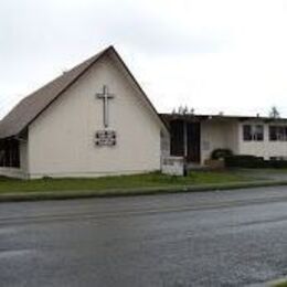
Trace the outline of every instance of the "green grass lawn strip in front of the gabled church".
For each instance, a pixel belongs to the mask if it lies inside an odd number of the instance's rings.
[[[233,171],[193,171],[188,177],[170,177],[159,172],[94,179],[15,180],[0,178],[0,194],[14,192],[115,190],[135,188],[184,187],[211,183],[246,182],[254,180]]]

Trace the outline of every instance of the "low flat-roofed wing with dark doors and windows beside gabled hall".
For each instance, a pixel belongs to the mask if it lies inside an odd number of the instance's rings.
[[[265,159],[287,159],[287,119],[223,115],[162,114],[171,155],[204,164],[215,149]]]

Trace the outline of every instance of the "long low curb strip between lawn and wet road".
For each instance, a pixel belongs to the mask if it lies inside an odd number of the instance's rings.
[[[220,190],[235,190],[263,187],[287,185],[287,181],[248,181],[201,185],[180,185],[180,187],[155,187],[138,189],[113,189],[113,190],[76,190],[76,191],[43,191],[43,192],[14,192],[0,194],[0,202],[19,201],[44,201],[44,200],[70,200],[87,198],[115,198],[115,196],[136,196],[183,192],[208,192]]]

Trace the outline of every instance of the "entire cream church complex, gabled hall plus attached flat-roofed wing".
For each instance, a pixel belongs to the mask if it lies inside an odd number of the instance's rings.
[[[0,174],[22,179],[164,171],[183,159],[209,166],[216,149],[286,160],[287,118],[159,115],[113,46],[0,121]]]

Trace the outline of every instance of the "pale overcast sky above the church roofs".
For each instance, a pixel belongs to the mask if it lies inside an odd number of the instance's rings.
[[[159,111],[287,116],[287,1],[2,0],[0,117],[110,44]]]

